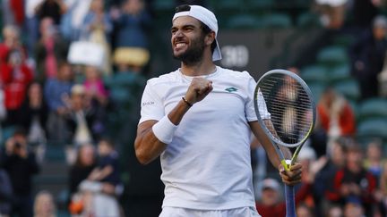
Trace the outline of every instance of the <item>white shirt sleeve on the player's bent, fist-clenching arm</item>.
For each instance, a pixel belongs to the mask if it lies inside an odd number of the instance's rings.
[[[153,88],[154,86],[150,82],[145,86],[142,94],[141,118],[139,123],[149,120],[159,121],[165,115],[163,102]]]

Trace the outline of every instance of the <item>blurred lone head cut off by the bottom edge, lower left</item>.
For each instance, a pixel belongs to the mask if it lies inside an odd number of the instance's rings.
[[[56,204],[51,193],[40,191],[35,196],[34,217],[56,217]]]

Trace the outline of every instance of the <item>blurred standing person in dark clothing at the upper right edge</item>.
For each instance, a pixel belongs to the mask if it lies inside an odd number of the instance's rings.
[[[383,69],[387,50],[387,19],[377,16],[373,28],[349,49],[352,74],[358,80],[362,99],[378,96],[377,76]]]

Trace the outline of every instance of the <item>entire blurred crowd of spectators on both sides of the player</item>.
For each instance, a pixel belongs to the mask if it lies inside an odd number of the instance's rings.
[[[183,2],[190,1],[176,4]],[[387,20],[378,16],[384,4],[316,0],[311,8],[321,14],[327,29],[342,29],[350,17],[350,33],[358,34],[348,57],[362,100],[381,96],[378,76],[383,67],[387,73]],[[66,152],[69,213],[122,215],[119,155],[106,125],[113,106],[106,80],[147,73],[154,19],[149,4],[3,0],[1,9],[0,216],[56,216],[52,193],[34,194],[32,186],[50,144],[71,144]],[[299,73],[297,68],[288,70]],[[359,145],[355,111],[334,88],[324,90],[317,112],[314,133],[299,154],[304,173],[297,186],[297,216],[387,216],[383,141],[375,138]],[[258,211],[283,216],[279,176],[265,162],[257,141],[253,147]]]

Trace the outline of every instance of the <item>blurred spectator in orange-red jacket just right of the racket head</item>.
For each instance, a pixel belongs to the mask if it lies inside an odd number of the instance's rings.
[[[318,119],[328,136],[328,146],[335,138],[351,138],[355,134],[355,115],[344,96],[326,88],[317,104]]]

